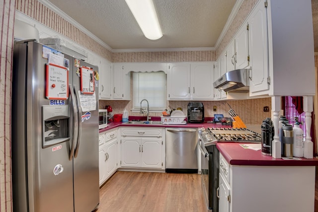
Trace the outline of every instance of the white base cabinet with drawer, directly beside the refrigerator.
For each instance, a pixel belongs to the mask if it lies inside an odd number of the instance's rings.
[[[99,135],[99,186],[117,170],[117,130]]]

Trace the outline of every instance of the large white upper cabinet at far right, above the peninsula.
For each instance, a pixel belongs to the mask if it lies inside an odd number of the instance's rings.
[[[311,1],[260,0],[247,22],[250,96],[315,95]]]

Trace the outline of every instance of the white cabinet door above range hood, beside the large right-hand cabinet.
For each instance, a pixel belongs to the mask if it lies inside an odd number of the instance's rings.
[[[235,37],[235,69],[244,69],[248,65],[248,30],[247,25],[243,25]]]

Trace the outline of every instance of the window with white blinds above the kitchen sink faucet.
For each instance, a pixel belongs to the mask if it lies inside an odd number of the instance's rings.
[[[140,108],[140,102],[143,99],[148,100],[151,110],[162,111],[162,109],[166,108],[166,81],[166,74],[163,71],[133,72],[134,108]]]

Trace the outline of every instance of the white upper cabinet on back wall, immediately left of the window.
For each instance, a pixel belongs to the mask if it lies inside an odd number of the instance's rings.
[[[130,72],[126,64],[114,63],[112,74],[112,99],[130,100]]]

